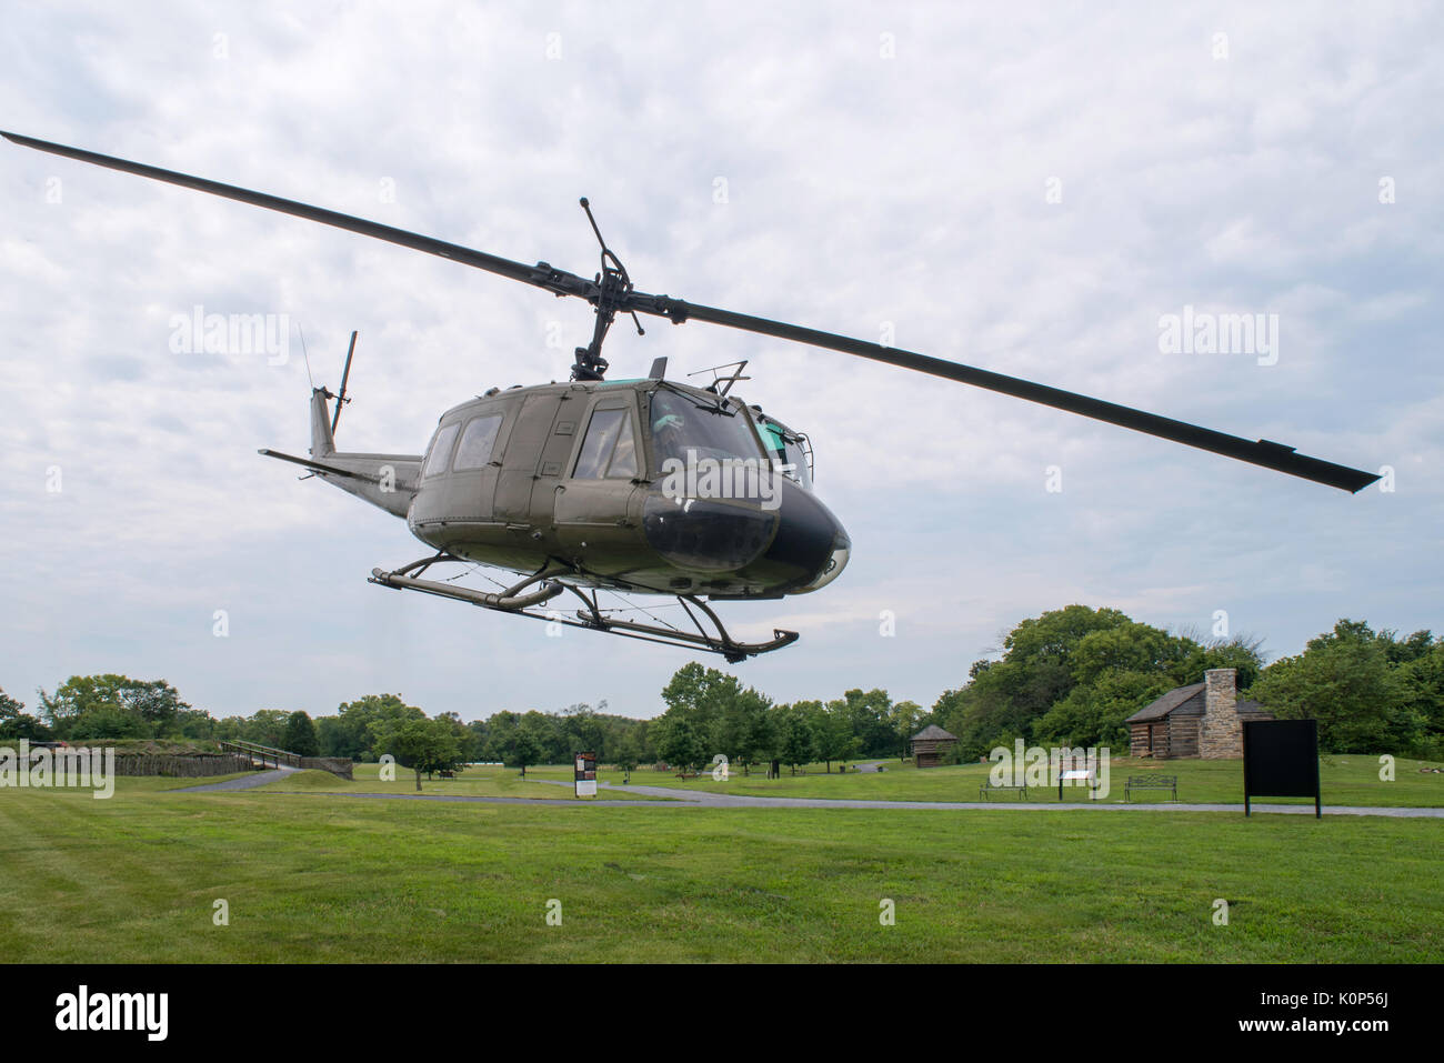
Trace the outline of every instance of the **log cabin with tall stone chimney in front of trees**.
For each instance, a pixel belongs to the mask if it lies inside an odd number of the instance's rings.
[[[1177,686],[1128,724],[1134,757],[1227,760],[1243,755],[1243,721],[1274,719],[1258,702],[1238,699],[1236,669],[1209,669],[1201,683]]]

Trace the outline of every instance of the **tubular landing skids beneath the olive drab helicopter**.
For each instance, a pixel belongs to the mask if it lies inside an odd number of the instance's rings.
[[[641,624],[634,620],[617,620],[615,617],[608,615],[608,612],[598,605],[596,591],[592,591],[591,595],[583,594],[580,588],[565,583],[557,578],[565,572],[565,569],[550,566],[527,576],[520,583],[508,586],[505,591],[497,592],[477,591],[469,586],[458,586],[455,583],[443,583],[435,579],[419,578],[419,575],[432,565],[440,565],[445,562],[458,562],[458,559],[446,555],[436,555],[435,557],[412,562],[410,565],[399,568],[393,572],[371,569],[371,576],[367,582],[377,583],[378,586],[390,586],[397,591],[420,591],[422,594],[432,594],[438,598],[451,598],[458,602],[478,605],[484,609],[510,612],[514,617],[544,620],[549,624],[580,627],[588,628],[589,631],[621,635],[622,638],[640,638],[647,643],[663,643],[664,646],[682,646],[690,650],[718,653],[734,664],[747,660],[748,657],[755,657],[760,653],[781,650],[784,646],[796,643],[799,637],[796,631],[773,628],[771,641],[739,643],[728,634],[716,612],[713,612],[706,602],[695,595],[680,594],[676,595],[677,602],[687,614],[693,627],[697,628],[695,634],[670,625],[663,627],[661,624]],[[576,611],[575,618],[563,617],[556,609],[542,611],[543,605],[567,591],[575,594],[583,605],[583,608]]]

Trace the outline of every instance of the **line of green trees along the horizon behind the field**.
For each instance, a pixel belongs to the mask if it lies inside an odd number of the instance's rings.
[[[930,709],[894,702],[882,689],[774,703],[736,676],[693,661],[663,687],[666,709],[654,719],[611,713],[602,700],[595,709],[501,709],[466,722],[455,711],[427,716],[396,693],[365,695],[315,719],[284,709],[217,719],[183,702],[165,680],[101,674],[39,690],[33,715],[0,690],[0,739],[250,741],[358,761],[391,754],[419,771],[477,761],[524,770],[565,763],[580,750],[628,768],[666,763],[700,770],[726,757],[744,773],[770,761],[794,768],[823,763],[830,771],[859,758],[905,757],[910,738],[928,724],[957,737],[956,761],[978,760],[1018,738],[1122,751],[1128,716],[1216,667],[1236,669],[1240,696],[1279,718],[1318,719],[1327,752],[1444,755],[1444,638],[1430,631],[1399,637],[1340,620],[1302,653],[1265,667],[1258,640],[1204,640],[1086,605],[1024,620]]]

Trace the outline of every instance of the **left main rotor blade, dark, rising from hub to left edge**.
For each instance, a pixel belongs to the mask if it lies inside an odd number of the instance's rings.
[[[321,207],[310,207],[309,204],[300,204],[295,199],[282,199],[277,195],[267,195],[266,192],[253,192],[245,188],[237,188],[235,185],[222,185],[219,181],[193,178],[188,173],[163,170],[159,166],[146,166],[144,163],[130,162],[127,159],[116,159],[97,152],[85,152],[79,147],[52,144],[48,140],[36,140],[33,137],[20,136],[19,133],[6,133],[4,130],[0,130],[0,136],[12,143],[23,147],[33,147],[39,152],[62,155],[66,159],[88,162],[94,166],[105,166],[107,169],[150,178],[152,181],[163,181],[168,185],[192,188],[196,192],[209,192],[211,195],[218,195],[225,199],[235,199],[237,202],[251,204],[253,207],[264,207],[266,209],[280,211],[282,214],[292,214],[297,218],[306,218],[308,221],[319,221],[323,225],[334,225],[335,228],[344,228],[349,233],[360,233],[365,237],[375,237],[377,240],[386,240],[390,244],[400,244],[401,247],[410,247],[416,251],[426,251],[427,254],[436,254],[442,259],[451,259],[452,261],[465,263],[466,266],[475,266],[477,269],[487,270],[488,273],[498,273],[503,277],[511,277],[513,280],[520,280],[524,285],[534,285],[536,287],[554,292],[556,295],[575,295],[583,299],[595,295],[596,286],[592,282],[583,280],[582,277],[576,277],[570,273],[563,273],[562,270],[553,270],[546,263],[524,266],[520,261],[511,261],[510,259],[501,259],[500,256],[487,254],[485,251],[477,251],[471,247],[462,247],[459,244],[449,244],[445,240],[436,240],[435,237],[423,237],[419,233],[407,233],[401,228],[383,225],[375,221],[367,221],[365,218],[354,218],[349,214],[339,214]]]

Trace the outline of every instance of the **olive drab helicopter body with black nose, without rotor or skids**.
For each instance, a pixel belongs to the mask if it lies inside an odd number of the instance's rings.
[[[420,458],[335,452],[316,397],[312,456],[367,459],[377,482],[318,475],[455,559],[710,599],[816,591],[848,560],[803,438],[736,397],[656,378],[492,389],[443,413]]]

